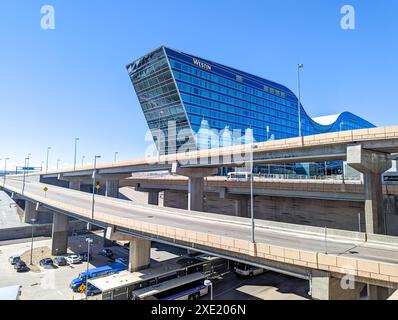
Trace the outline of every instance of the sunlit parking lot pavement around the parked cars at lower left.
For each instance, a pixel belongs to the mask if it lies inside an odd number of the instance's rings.
[[[85,241],[88,235],[73,236],[69,238],[69,254],[87,252],[87,243]],[[97,267],[106,265],[112,260],[98,255],[98,251],[102,249],[103,238],[101,235],[90,234],[90,238],[94,240],[92,245],[93,260],[89,267]],[[17,273],[8,258],[12,255],[27,256],[26,264],[30,262],[30,239],[24,241],[8,241],[0,243],[0,287],[21,285],[21,300],[73,300],[82,299],[84,295],[74,293],[70,288],[70,282],[76,278],[80,272],[85,271],[86,262],[45,269],[38,266],[38,261],[49,256],[49,248],[51,239],[40,239],[34,242],[35,266],[31,267],[31,271],[25,273]],[[110,249],[114,252],[115,257],[128,258],[128,250],[123,246],[113,246]],[[151,257],[157,261],[167,260],[183,254],[185,250],[164,251],[161,245],[156,245],[151,249]]]

